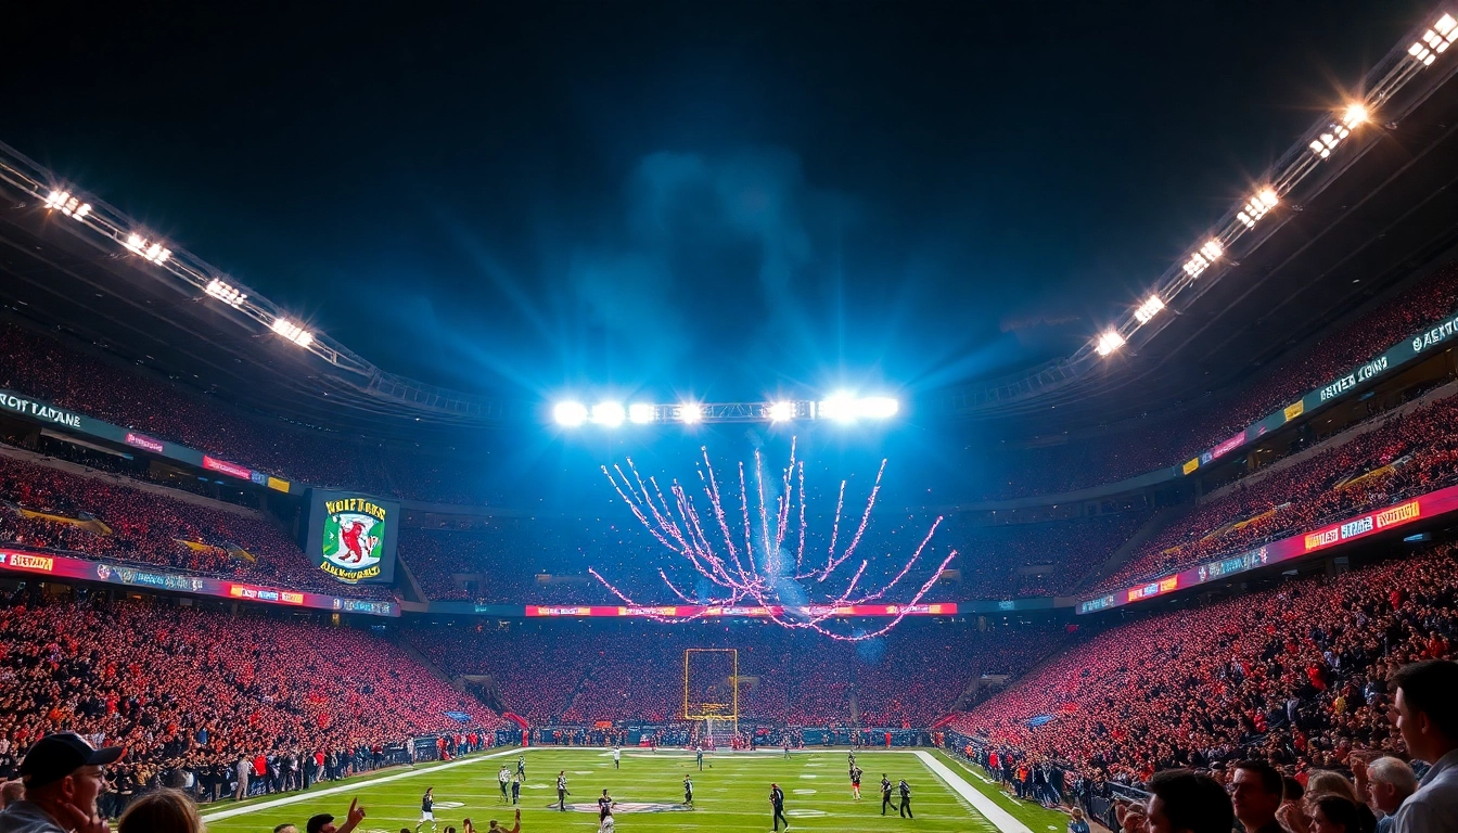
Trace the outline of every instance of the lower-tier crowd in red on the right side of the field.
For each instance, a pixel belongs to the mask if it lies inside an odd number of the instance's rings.
[[[1443,544],[1112,627],[954,728],[1133,780],[1244,757],[1336,767],[1352,748],[1397,748],[1388,674],[1455,643],[1458,559]],[[1054,719],[1029,728],[1040,715]]]

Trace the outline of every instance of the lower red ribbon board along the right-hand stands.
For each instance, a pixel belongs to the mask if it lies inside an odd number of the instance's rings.
[[[1280,538],[1238,556],[1226,556],[1171,576],[1142,582],[1118,592],[1086,598],[1079,603],[1079,613],[1098,613],[1101,610],[1165,595],[1177,589],[1223,579],[1235,573],[1244,573],[1267,565],[1289,562],[1338,544],[1366,538],[1387,530],[1395,530],[1397,527],[1411,524],[1419,518],[1432,518],[1455,509],[1458,509],[1458,486],[1449,486],[1448,489],[1429,492],[1427,495],[1394,503],[1385,509],[1376,509],[1354,518],[1337,521],[1336,524],[1327,524],[1325,527],[1319,527],[1309,532]]]

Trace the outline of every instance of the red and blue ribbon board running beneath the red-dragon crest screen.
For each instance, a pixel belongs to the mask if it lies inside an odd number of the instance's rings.
[[[131,588],[185,592],[192,595],[230,598],[235,601],[278,604],[286,607],[330,610],[338,613],[399,616],[399,605],[392,601],[302,592],[274,586],[239,584],[210,576],[191,576],[155,569],[137,569],[109,562],[90,562],[71,556],[41,554],[23,550],[0,549],[0,573],[77,579]]]

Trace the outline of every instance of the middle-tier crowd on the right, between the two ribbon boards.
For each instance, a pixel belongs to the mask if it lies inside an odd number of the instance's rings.
[[[1213,556],[1385,506],[1458,480],[1458,397],[1392,416],[1268,477],[1198,505],[1096,589],[1184,569]]]

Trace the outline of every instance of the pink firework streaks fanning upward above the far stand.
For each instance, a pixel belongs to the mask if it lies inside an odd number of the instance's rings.
[[[754,452],[751,471],[746,471],[744,462],[739,464],[738,505],[729,495],[728,508],[719,476],[709,460],[709,449],[701,448],[700,451],[703,462],[698,465],[698,484],[693,490],[674,480],[665,493],[659,487],[658,479],[644,479],[639,474],[631,458],[625,461],[627,470],[621,465],[602,467],[602,473],[639,522],[659,544],[677,556],[675,575],[665,569],[658,570],[663,586],[684,604],[703,605],[697,610],[754,605],[763,608],[763,614],[781,627],[809,629],[847,642],[873,639],[895,627],[956,557],[956,550],[951,550],[911,598],[898,605],[897,616],[884,627],[849,636],[835,633],[824,623],[843,613],[837,608],[884,600],[921,560],[937,527],[942,525],[942,518],[939,516],[932,524],[921,543],[886,584],[878,589],[866,589],[862,586],[862,581],[866,578],[870,560],[860,559],[854,570],[850,570],[847,565],[856,563],[856,550],[870,524],[870,514],[875,509],[876,496],[881,493],[881,479],[886,471],[885,460],[876,470],[876,480],[866,496],[866,506],[860,512],[854,534],[837,553],[843,537],[841,516],[846,509],[846,481],[840,483],[830,541],[824,550],[824,562],[821,562],[815,549],[806,549],[812,541],[805,519],[808,506],[805,462],[796,460],[793,439],[790,441],[789,464],[777,476],[765,476],[764,460],[758,451]],[[792,554],[793,567],[790,566]],[[640,607],[640,603],[614,586],[598,570],[589,569],[588,572],[624,604]],[[851,573],[849,579],[844,578],[847,572]],[[685,578],[694,585],[707,584],[712,588],[710,597],[690,598],[681,589]],[[837,592],[835,588],[843,589]],[[653,619],[684,621],[698,616],[703,613],[682,617],[655,616]]]

